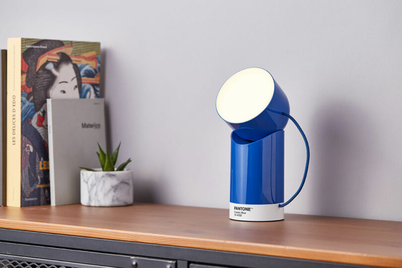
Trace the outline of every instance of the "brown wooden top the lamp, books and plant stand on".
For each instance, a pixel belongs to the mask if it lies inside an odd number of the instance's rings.
[[[285,214],[229,219],[228,209],[135,203],[0,207],[0,228],[347,264],[402,267],[402,222]]]

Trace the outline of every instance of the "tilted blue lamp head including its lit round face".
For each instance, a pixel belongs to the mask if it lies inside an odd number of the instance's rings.
[[[252,67],[230,76],[216,97],[218,115],[246,140],[258,140],[283,130],[289,113],[286,95],[263,68]]]

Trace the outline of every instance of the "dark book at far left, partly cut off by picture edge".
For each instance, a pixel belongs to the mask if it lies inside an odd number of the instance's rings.
[[[1,126],[1,142],[0,142],[0,150],[1,150],[1,159],[0,159],[0,206],[6,204],[5,200],[5,134],[6,134],[6,125],[5,125],[5,101],[7,96],[6,91],[6,76],[7,76],[7,50],[2,49],[0,53],[0,89],[1,89],[1,100],[0,100],[0,126]]]

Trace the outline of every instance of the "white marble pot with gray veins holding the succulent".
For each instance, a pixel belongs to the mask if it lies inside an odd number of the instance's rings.
[[[83,205],[119,206],[130,205],[134,201],[131,170],[81,170],[80,181]]]

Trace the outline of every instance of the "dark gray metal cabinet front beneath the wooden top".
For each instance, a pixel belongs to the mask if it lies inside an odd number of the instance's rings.
[[[0,267],[339,268],[358,266],[0,229]]]

